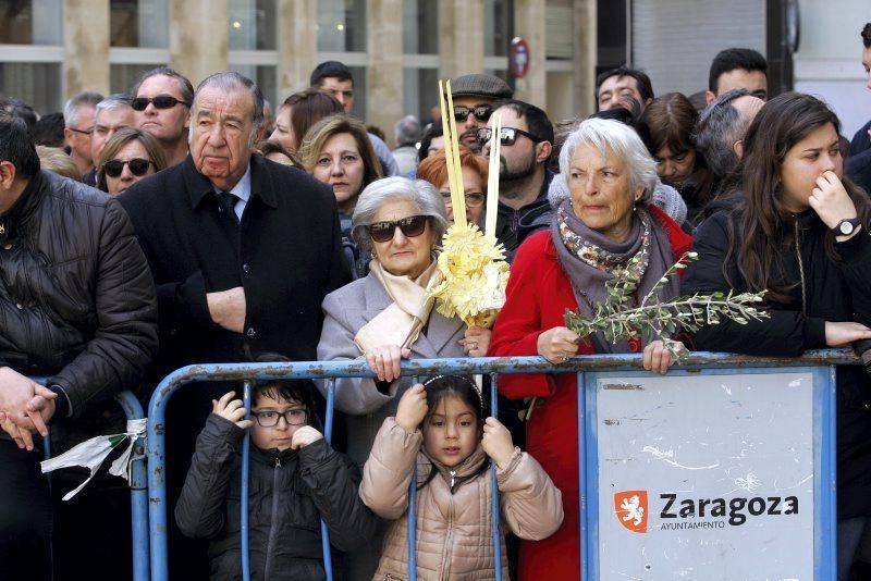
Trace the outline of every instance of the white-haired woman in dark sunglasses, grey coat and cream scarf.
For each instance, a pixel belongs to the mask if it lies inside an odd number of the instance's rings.
[[[378,429],[395,415],[400,397],[415,383],[402,374],[402,359],[487,353],[489,331],[446,319],[426,296],[427,284],[438,276],[438,244],[446,228],[442,198],[422,180],[379,180],[357,201],[353,235],[361,251],[371,252],[370,270],[323,300],[318,360],[365,358],[376,375],[335,382],[335,407],[347,415],[347,455],[360,465]],[[348,569],[355,579],[372,578],[380,541],[378,535],[352,554]]]

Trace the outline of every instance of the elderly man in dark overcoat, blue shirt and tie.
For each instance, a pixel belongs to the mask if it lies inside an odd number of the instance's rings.
[[[332,191],[294,168],[252,154],[262,119],[263,98],[250,79],[209,76],[194,96],[187,159],[119,198],[157,285],[161,373],[275,353],[314,360],[321,301],[351,280]],[[168,457],[184,462],[169,467],[171,497],[209,399],[225,391],[183,391],[169,407],[173,438],[184,440],[175,450],[169,441]],[[180,425],[186,433],[179,433]],[[191,560],[180,553],[186,552],[170,552]]]

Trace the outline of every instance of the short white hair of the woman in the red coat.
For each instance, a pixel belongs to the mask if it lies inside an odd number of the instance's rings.
[[[641,203],[649,203],[653,190],[659,182],[657,174],[657,162],[650,157],[650,152],[645,147],[641,138],[635,129],[619,121],[606,119],[587,119],[581,121],[563,144],[560,151],[560,174],[568,187],[569,165],[572,157],[579,146],[594,147],[603,157],[615,156],[629,171],[629,185],[633,189],[638,186],[645,188],[645,193],[638,200]]]

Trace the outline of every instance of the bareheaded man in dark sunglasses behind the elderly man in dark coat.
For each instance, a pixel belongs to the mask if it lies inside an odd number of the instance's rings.
[[[136,127],[160,141],[167,166],[187,156],[187,129],[194,86],[169,66],[144,73],[131,90],[131,107],[136,112]]]

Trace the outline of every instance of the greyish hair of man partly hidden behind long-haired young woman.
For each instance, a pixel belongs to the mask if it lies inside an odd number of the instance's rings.
[[[733,146],[744,139],[750,121],[735,109],[734,101],[749,95],[747,89],[724,92],[701,112],[696,122],[696,149],[720,180],[738,165],[738,156]]]

